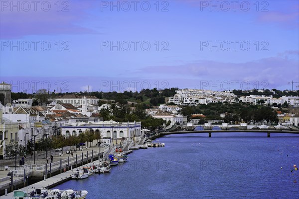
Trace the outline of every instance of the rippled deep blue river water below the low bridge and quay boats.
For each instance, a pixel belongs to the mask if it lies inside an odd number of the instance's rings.
[[[87,190],[88,199],[299,198],[299,170],[293,168],[299,167],[298,135],[207,136],[160,138],[165,147],[134,151],[111,173],[56,188]]]

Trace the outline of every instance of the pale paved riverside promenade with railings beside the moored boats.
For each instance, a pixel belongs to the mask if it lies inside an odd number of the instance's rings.
[[[66,177],[69,177],[71,173],[70,169],[76,168],[77,166],[82,165],[90,165],[91,162],[94,162],[98,159],[99,147],[96,146],[97,140],[94,140],[94,143],[89,143],[88,147],[83,146],[81,148],[74,148],[73,155],[71,153],[67,153],[70,150],[70,147],[64,147],[63,151],[47,151],[47,156],[49,157],[48,163],[46,159],[45,152],[38,152],[35,154],[35,164],[34,164],[34,156],[27,156],[25,158],[24,165],[19,165],[19,159],[9,159],[2,160],[0,163],[0,190],[1,195],[5,193],[5,189],[9,193],[12,190],[17,190],[19,188],[25,187],[28,185],[31,188],[32,186],[35,188],[40,187],[48,187],[53,183],[62,183]],[[101,146],[101,157],[107,157],[109,153],[115,150],[116,146],[121,147],[120,141],[117,141],[116,144],[111,144],[110,146]],[[126,141],[122,147],[130,148],[130,146],[134,145],[134,141]],[[71,147],[72,149],[72,147]],[[127,149],[128,150],[128,149]],[[51,163],[50,156],[53,156],[53,160]],[[16,167],[15,167],[16,163]],[[95,163],[96,164],[96,163]],[[7,168],[5,170],[5,168]],[[25,170],[25,178],[24,178],[24,170]],[[13,174],[12,185],[11,186],[11,176],[8,176],[8,173]],[[44,183],[43,179],[46,179],[47,183]],[[29,178],[29,180],[28,180]],[[35,179],[34,179],[35,178]],[[32,179],[35,182],[32,184]],[[48,181],[51,179],[51,183]],[[31,180],[31,183],[30,183]],[[36,184],[40,183],[40,184]],[[31,185],[30,185],[31,184]],[[36,184],[36,185],[35,185]],[[51,186],[50,186],[51,187]],[[26,187],[23,189],[27,189]],[[8,195],[7,195],[8,196]],[[0,198],[3,199],[1,196]],[[6,197],[6,196],[5,196]],[[10,197],[11,198],[11,197]]]

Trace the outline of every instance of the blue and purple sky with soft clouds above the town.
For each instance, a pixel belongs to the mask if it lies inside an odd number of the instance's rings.
[[[292,90],[299,1],[0,0],[0,81],[26,93]]]

